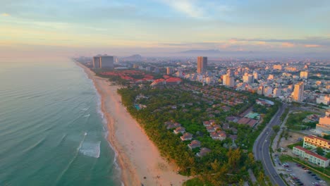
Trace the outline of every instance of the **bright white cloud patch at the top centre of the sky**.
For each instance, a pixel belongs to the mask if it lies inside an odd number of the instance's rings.
[[[164,0],[164,4],[171,6],[176,11],[184,13],[192,18],[204,17],[204,11],[200,6],[197,6],[196,1],[189,0]]]

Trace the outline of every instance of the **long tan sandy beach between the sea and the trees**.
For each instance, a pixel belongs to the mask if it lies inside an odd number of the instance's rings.
[[[94,82],[107,120],[108,140],[117,152],[124,185],[182,185],[188,177],[176,174],[176,166],[166,162],[144,130],[126,111],[117,94],[119,86],[94,75],[82,66]],[[110,86],[111,85],[111,86]]]

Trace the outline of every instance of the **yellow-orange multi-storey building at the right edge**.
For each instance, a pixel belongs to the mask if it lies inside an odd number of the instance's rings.
[[[317,147],[321,147],[325,153],[330,152],[330,141],[325,140],[322,137],[317,137],[314,135],[308,135],[304,137],[304,148],[312,148],[315,149]]]

